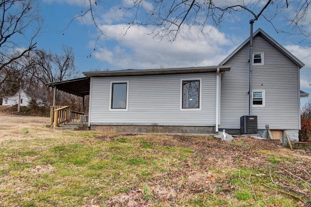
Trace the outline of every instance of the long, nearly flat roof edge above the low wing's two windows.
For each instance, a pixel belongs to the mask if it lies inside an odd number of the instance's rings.
[[[86,77],[144,76],[144,75],[216,72],[217,68],[220,68],[220,72],[230,70],[230,66],[218,65],[218,66],[207,66],[207,67],[181,67],[181,68],[161,68],[161,69],[142,69],[142,70],[127,69],[127,70],[112,70],[112,71],[96,71],[96,72],[83,72],[83,74]]]

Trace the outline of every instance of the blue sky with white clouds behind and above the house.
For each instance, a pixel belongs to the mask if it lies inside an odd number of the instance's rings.
[[[244,0],[245,1],[245,0]],[[252,2],[252,0],[249,0]],[[239,14],[234,20],[226,19],[220,28],[206,25],[204,34],[198,32],[198,27],[188,30],[185,24],[182,28],[183,37],[169,42],[167,39],[148,35],[154,27],[132,26],[126,31],[128,22],[133,19],[133,12],[124,16],[121,6],[128,5],[128,0],[105,0],[94,6],[94,12],[99,27],[109,38],[99,37],[89,15],[70,21],[85,12],[87,0],[42,0],[39,1],[41,15],[44,17],[44,27],[37,38],[37,47],[61,52],[62,46],[73,48],[75,65],[82,72],[99,69],[148,69],[161,67],[189,67],[217,65],[249,37],[249,20],[247,13]],[[104,3],[103,3],[104,2]],[[152,6],[144,1],[145,9]],[[264,4],[266,1],[260,1]],[[286,15],[286,14],[285,14]],[[289,8],[288,15],[291,15]],[[311,21],[311,14],[306,22]],[[70,23],[70,25],[69,25]],[[286,30],[287,22],[281,17],[275,19],[278,28]],[[69,27],[68,27],[69,26]],[[254,31],[263,29],[283,47],[292,52],[306,66],[300,70],[301,90],[311,94],[311,44],[298,45],[302,36],[277,33],[263,18],[254,24]],[[311,24],[305,29],[311,32]],[[96,50],[93,49],[96,46]],[[311,97],[302,98],[302,103]]]

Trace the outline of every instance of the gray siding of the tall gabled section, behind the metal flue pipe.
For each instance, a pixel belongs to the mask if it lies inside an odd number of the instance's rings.
[[[253,53],[264,52],[264,64],[253,65],[253,90],[265,90],[265,106],[252,107],[258,128],[299,129],[299,68],[261,36],[254,38]],[[240,117],[248,115],[249,44],[225,64],[221,88],[220,128],[240,128]],[[297,81],[298,80],[298,81]]]

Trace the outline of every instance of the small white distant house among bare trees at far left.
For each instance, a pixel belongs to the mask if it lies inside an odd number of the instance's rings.
[[[2,98],[2,106],[14,106],[18,104],[18,96],[20,93],[20,106],[28,106],[32,98],[39,106],[44,106],[43,98],[32,95],[29,91],[20,90],[14,96],[6,96]]]

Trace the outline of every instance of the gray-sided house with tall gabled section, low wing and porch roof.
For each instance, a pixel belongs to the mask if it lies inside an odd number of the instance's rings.
[[[297,141],[300,96],[308,95],[299,86],[304,64],[261,29],[249,60],[249,42],[217,66],[84,72],[86,78],[48,85],[76,94],[89,90],[82,96],[89,95],[90,130],[239,134],[241,117],[249,113],[251,61],[259,135],[287,130]]]

